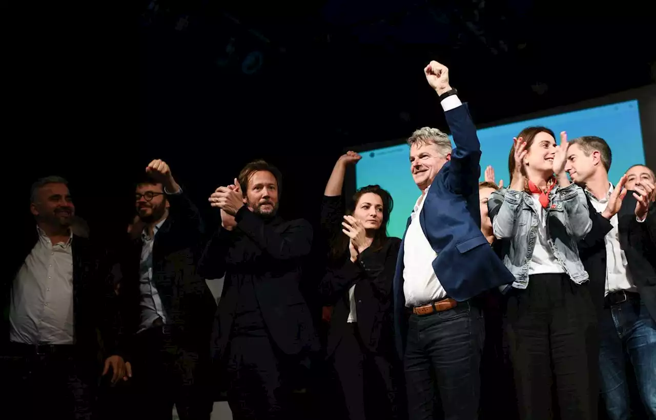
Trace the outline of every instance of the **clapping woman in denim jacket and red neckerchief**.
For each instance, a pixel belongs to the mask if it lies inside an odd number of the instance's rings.
[[[598,343],[577,242],[590,228],[581,187],[565,173],[567,135],[524,129],[508,158],[510,188],[488,201],[504,264],[515,276],[506,334],[522,419],[596,419]],[[555,395],[552,395],[552,384]]]

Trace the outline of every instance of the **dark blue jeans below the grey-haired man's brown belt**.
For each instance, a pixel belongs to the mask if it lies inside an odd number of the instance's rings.
[[[411,314],[403,356],[410,420],[478,418],[485,324],[468,302],[430,315]],[[436,415],[441,400],[444,415]]]

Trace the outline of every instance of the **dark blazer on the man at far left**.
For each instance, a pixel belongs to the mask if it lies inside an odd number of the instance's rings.
[[[0,354],[6,354],[9,344],[9,311],[12,284],[18,270],[25,263],[34,245],[39,240],[37,229],[33,226],[24,240],[16,244],[15,252],[7,263],[2,275],[3,318],[0,324]],[[75,346],[83,354],[96,357],[100,350],[104,358],[112,354],[123,354],[117,348],[117,300],[109,279],[105,250],[80,236],[73,235],[73,333]],[[100,332],[101,343],[98,340]]]

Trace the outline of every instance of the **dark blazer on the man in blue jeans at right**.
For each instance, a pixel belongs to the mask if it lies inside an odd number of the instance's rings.
[[[590,294],[598,312],[604,308],[604,294],[606,283],[606,248],[604,237],[611,231],[611,222],[598,213],[588,197],[592,230],[579,242],[579,255],[585,270],[590,276]],[[638,288],[640,298],[644,301],[656,320],[656,241],[653,236],[653,226],[656,219],[656,206],[651,205],[647,220],[640,223],[636,221],[634,210],[636,199],[632,192],[626,194],[622,207],[617,213],[617,227],[619,230],[620,246],[626,255],[628,270],[631,278]]]

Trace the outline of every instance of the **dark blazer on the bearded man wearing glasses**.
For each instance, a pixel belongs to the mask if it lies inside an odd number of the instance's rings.
[[[153,282],[177,344],[189,350],[207,351],[216,301],[196,270],[203,251],[203,221],[184,192],[171,194],[167,199],[171,203],[169,217],[153,244]],[[139,238],[127,247],[121,261],[121,323],[129,343],[140,325],[141,249]]]

